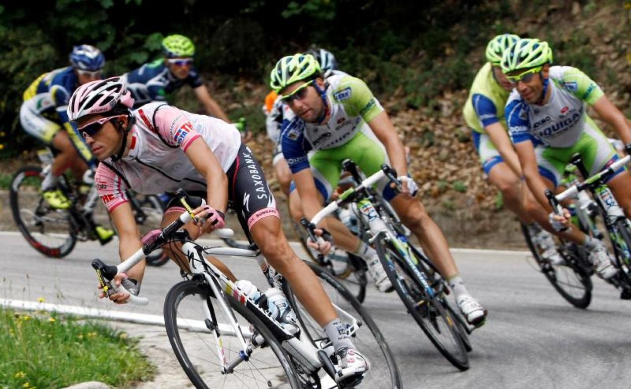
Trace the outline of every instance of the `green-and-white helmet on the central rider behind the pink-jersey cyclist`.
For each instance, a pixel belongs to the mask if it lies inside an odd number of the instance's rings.
[[[311,54],[288,55],[276,62],[269,74],[269,86],[278,93],[281,89],[297,81],[322,77],[320,64]]]

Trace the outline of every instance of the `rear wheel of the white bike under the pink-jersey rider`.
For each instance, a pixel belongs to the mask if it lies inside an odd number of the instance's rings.
[[[375,389],[401,388],[401,374],[394,360],[394,355],[368,311],[355,299],[351,291],[338,278],[313,262],[305,261],[305,263],[313,270],[315,276],[320,279],[320,283],[331,299],[339,318],[348,325],[350,325],[348,320],[350,316],[361,322],[360,327],[352,335],[351,340],[357,346],[357,350],[370,361],[370,370],[360,386],[362,388]],[[294,308],[298,322],[300,322],[302,334],[307,336],[316,347],[323,347],[329,342],[329,339],[326,337],[322,327],[315,322],[314,318],[309,315],[304,306],[298,301],[292,293],[288,282],[283,282],[283,289],[287,299]],[[332,347],[330,351],[333,352]],[[335,386],[334,381],[324,371],[319,375],[322,380],[322,388]]]

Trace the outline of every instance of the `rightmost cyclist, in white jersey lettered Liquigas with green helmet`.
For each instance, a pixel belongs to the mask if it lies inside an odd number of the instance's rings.
[[[518,40],[502,57],[502,71],[516,83],[504,112],[531,192],[525,195],[524,206],[551,233],[586,245],[599,276],[608,279],[616,269],[603,243],[571,228],[567,210],[564,216],[555,216],[544,192],[557,187],[574,154],[581,154],[589,174],[619,158],[587,116],[586,103],[615,127],[625,144],[631,142],[631,122],[586,74],[575,67],[551,66],[552,59],[550,46],[537,39]],[[628,171],[620,169],[607,185],[627,217],[631,216]],[[558,232],[563,226],[570,227],[569,231]]]

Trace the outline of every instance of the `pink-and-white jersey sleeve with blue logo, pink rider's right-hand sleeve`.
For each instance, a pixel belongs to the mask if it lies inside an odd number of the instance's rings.
[[[186,114],[170,105],[163,105],[156,109],[154,122],[163,141],[185,152],[192,141],[201,137]]]

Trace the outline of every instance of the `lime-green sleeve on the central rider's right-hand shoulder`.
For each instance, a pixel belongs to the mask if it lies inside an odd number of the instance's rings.
[[[338,84],[333,91],[333,99],[344,105],[348,115],[361,116],[367,123],[384,111],[366,83],[351,76],[343,78]]]

